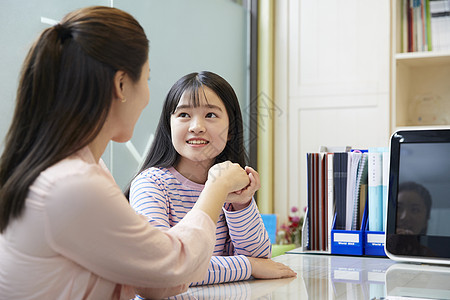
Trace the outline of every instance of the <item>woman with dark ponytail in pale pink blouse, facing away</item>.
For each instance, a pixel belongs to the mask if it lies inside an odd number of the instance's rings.
[[[137,216],[100,157],[130,139],[148,77],[145,33],[118,9],[74,11],[32,46],[0,159],[0,299],[160,298],[204,277],[225,198],[250,179],[223,162],[177,226]]]

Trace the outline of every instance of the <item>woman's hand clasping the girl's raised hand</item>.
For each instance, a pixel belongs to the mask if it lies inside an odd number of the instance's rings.
[[[221,185],[228,193],[232,193],[242,190],[249,182],[247,172],[239,164],[225,161],[209,169],[205,185]]]

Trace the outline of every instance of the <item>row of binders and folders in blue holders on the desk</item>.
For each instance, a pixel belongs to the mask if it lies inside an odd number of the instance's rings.
[[[321,147],[306,159],[303,250],[362,255],[367,237],[367,247],[384,248],[387,148]]]

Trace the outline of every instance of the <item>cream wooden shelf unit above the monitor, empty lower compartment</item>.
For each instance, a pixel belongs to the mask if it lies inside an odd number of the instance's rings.
[[[401,53],[401,0],[392,0],[391,130],[450,126],[450,51]]]

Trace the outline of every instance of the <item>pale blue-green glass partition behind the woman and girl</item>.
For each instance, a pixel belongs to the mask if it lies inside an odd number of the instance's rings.
[[[131,13],[150,40],[150,104],[131,141],[110,143],[103,155],[120,187],[137,171],[165,95],[183,75],[202,70],[221,75],[235,89],[242,111],[248,111],[248,12],[241,4],[230,0],[7,0],[0,3],[0,151],[14,110],[20,67],[32,41],[67,12],[88,5],[114,6]],[[244,122],[248,124],[247,116]]]

